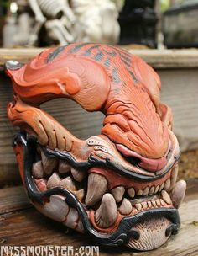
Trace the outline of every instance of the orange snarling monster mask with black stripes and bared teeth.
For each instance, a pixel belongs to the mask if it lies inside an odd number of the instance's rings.
[[[40,212],[106,246],[150,250],[178,231],[180,149],[151,67],[113,46],[73,44],[8,61],[7,72],[14,151]],[[56,98],[102,111],[101,134],[80,140],[39,108]]]

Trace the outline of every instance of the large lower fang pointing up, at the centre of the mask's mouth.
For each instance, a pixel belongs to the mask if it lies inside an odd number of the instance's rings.
[[[105,194],[102,197],[100,207],[96,210],[95,221],[99,227],[107,228],[117,220],[117,205],[112,194]]]

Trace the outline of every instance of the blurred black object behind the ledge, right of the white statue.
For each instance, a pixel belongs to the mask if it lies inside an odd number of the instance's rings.
[[[148,45],[155,48],[156,24],[155,0],[125,0],[119,16],[120,44]]]

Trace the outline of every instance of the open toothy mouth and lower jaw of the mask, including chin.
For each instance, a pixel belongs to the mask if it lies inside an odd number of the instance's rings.
[[[178,231],[178,201],[170,196],[177,176],[174,166],[159,179],[143,182],[102,166],[85,164],[82,168],[79,163],[77,168],[69,158],[57,157],[56,153],[52,157],[52,151],[48,154],[48,148],[40,146],[32,136],[18,134],[15,145],[18,143],[23,144],[24,182],[29,197],[46,216],[77,231],[89,232],[107,246],[125,243],[136,249],[153,249],[164,243],[160,236],[166,241]],[[117,183],[113,182],[118,176]],[[112,188],[112,184],[116,187]],[[149,220],[159,227],[152,230]],[[149,246],[143,244],[143,236],[154,237],[156,233],[159,243],[155,239]]]

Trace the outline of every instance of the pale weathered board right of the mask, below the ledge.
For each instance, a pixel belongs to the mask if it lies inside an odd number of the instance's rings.
[[[161,99],[174,114],[174,131],[182,152],[198,148],[197,69],[159,70]]]

